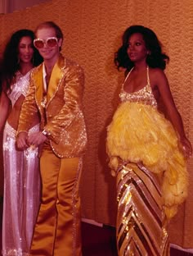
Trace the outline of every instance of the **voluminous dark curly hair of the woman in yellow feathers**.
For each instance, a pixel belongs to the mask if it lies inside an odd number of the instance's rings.
[[[128,39],[132,34],[136,33],[142,35],[146,43],[146,48],[150,51],[150,55],[146,57],[147,65],[153,68],[159,67],[160,69],[164,70],[166,63],[169,61],[169,57],[165,53],[162,53],[161,43],[159,42],[155,32],[143,25],[132,25],[124,31],[122,37],[123,44],[119,50],[114,53],[114,63],[118,70],[120,67],[123,67],[130,71],[132,66],[134,66],[134,63],[128,57],[127,50]]]

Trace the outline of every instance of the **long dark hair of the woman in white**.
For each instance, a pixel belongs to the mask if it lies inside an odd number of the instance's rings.
[[[34,48],[33,41],[35,35],[32,30],[17,30],[14,34],[11,35],[11,38],[7,42],[1,62],[0,92],[2,89],[7,90],[10,88],[11,81],[16,74],[16,71],[20,70],[20,63],[18,62],[19,43],[20,39],[25,36],[28,36],[30,39],[32,39],[32,47]],[[34,48],[33,65],[38,66],[41,62],[43,62],[43,57],[41,57],[38,53],[38,50]]]

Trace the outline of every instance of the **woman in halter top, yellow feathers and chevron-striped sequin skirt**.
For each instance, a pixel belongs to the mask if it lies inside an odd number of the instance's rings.
[[[106,140],[117,181],[118,252],[168,255],[168,221],[186,199],[186,158],[192,153],[164,75],[168,56],[152,30],[133,25],[114,62],[126,70]]]

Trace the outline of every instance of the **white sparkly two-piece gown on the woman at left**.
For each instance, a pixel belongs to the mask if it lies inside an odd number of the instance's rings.
[[[21,94],[26,95],[28,86],[29,73],[18,73],[8,94],[12,106]],[[38,129],[37,125],[29,132]],[[40,199],[38,149],[16,150],[16,130],[8,122],[3,132],[3,163],[2,255],[29,255]]]

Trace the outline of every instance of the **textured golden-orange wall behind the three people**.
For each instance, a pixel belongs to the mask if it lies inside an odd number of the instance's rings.
[[[114,52],[123,31],[133,24],[155,30],[168,53],[166,73],[187,135],[193,143],[193,1],[192,0],[55,0],[0,16],[0,51],[12,31],[56,21],[65,33],[63,53],[85,71],[84,107],[88,151],[81,184],[83,217],[114,225],[115,185],[107,167],[105,127],[118,103],[123,73],[114,67]],[[173,243],[193,248],[193,160],[190,195],[173,219]]]

